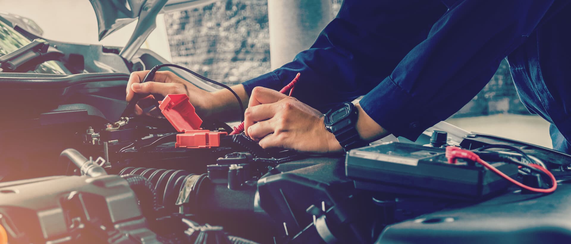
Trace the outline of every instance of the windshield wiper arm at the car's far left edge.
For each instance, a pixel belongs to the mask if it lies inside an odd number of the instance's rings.
[[[34,70],[38,64],[63,57],[62,51],[50,46],[44,39],[34,39],[31,43],[9,54],[0,56],[0,72],[26,72]]]

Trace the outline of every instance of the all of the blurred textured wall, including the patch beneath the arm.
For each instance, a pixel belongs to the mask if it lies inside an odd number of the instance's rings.
[[[284,0],[287,1],[287,0]],[[342,0],[332,0],[335,15]],[[164,16],[172,62],[234,85],[270,71],[267,0],[227,0]],[[453,117],[529,112],[505,60],[490,82]]]

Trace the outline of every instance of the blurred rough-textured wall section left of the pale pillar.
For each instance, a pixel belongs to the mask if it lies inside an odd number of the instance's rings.
[[[218,1],[164,21],[176,64],[226,84],[270,71],[267,0]]]

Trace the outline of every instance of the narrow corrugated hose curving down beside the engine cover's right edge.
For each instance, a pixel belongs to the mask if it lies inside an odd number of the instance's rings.
[[[121,178],[126,180],[131,190],[135,192],[143,215],[145,217],[155,217],[155,207],[158,204],[155,187],[152,183],[147,178],[136,174],[124,175]]]

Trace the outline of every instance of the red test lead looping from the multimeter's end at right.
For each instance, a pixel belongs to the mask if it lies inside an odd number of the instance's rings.
[[[512,182],[513,184],[520,186],[523,189],[532,191],[532,192],[552,193],[555,191],[555,189],[557,189],[557,180],[555,179],[553,174],[551,172],[549,172],[549,170],[547,170],[547,169],[545,169],[542,166],[537,165],[537,164],[529,164],[529,166],[532,166],[533,168],[537,168],[537,169],[541,170],[542,172],[544,172],[545,174],[547,174],[549,176],[549,178],[551,178],[551,182],[552,182],[551,188],[548,188],[548,189],[533,188],[531,186],[526,186],[524,184],[521,184],[521,182],[516,181],[512,177],[509,177],[508,175],[502,173],[500,170],[494,168],[494,166],[488,164],[488,162],[481,160],[481,158],[476,153],[474,153],[472,151],[461,149],[459,147],[447,147],[446,148],[446,157],[448,158],[448,162],[451,164],[456,164],[457,158],[465,158],[465,159],[469,159],[469,160],[478,162],[478,164],[481,164],[484,167],[488,168],[489,170],[492,170],[494,173],[496,173],[499,176],[505,178],[506,180]]]

